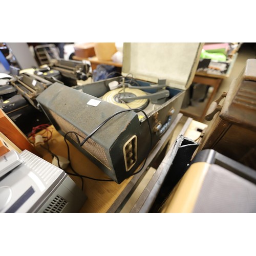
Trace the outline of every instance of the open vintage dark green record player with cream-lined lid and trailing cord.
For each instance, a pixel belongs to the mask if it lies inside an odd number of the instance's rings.
[[[178,115],[201,49],[200,43],[125,43],[122,76],[74,88],[56,82],[37,101],[56,130],[121,183]]]

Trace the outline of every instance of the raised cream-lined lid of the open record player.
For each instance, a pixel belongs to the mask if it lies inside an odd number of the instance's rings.
[[[125,42],[122,75],[186,90],[196,73],[203,44],[198,42]]]

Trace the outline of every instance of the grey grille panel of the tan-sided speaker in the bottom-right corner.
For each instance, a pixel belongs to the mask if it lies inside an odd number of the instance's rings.
[[[212,164],[193,212],[256,212],[255,202],[255,184]]]

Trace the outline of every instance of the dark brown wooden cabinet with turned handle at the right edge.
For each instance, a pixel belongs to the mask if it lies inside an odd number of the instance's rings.
[[[232,81],[199,150],[205,148],[256,169],[256,59],[248,59],[244,72]]]

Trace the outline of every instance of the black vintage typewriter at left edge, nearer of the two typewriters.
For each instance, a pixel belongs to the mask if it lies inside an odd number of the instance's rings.
[[[0,79],[0,82],[3,80],[7,79]],[[38,107],[35,98],[51,84],[48,80],[25,72],[9,78],[4,89],[0,88],[3,93],[0,109],[24,134],[30,133],[34,126],[49,122],[44,112]]]

